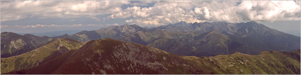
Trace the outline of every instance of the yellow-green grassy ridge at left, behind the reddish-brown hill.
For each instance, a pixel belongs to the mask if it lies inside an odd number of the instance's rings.
[[[1,58],[1,73],[31,68],[43,64],[44,62],[63,55],[70,49],[78,49],[84,44],[83,42],[69,38],[56,39],[30,52],[9,58]]]

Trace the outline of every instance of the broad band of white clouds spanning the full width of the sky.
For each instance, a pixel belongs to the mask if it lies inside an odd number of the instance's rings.
[[[96,21],[131,17],[133,19],[126,22],[142,26],[181,21],[273,22],[300,20],[300,3],[301,1],[1,1],[1,22],[28,17],[90,17]],[[110,15],[96,17],[99,14]]]

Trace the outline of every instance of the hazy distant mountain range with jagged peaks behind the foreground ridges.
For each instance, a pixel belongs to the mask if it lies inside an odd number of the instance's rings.
[[[153,29],[145,29],[136,24],[125,24],[53,38],[71,38],[81,42],[112,38],[149,45],[170,53],[187,56],[215,56],[233,54],[235,52],[257,55],[262,51],[292,51],[300,49],[300,37],[270,29],[254,21],[235,24],[226,22],[195,22],[188,26],[190,24],[179,22],[176,23],[177,26],[159,26]],[[248,32],[246,32],[246,29],[248,29]],[[216,35],[207,35],[212,31]],[[207,35],[207,38],[204,37],[205,35]],[[209,37],[216,37],[216,39],[208,39]],[[158,41],[162,41],[159,43],[161,46],[158,43],[155,44]],[[245,50],[238,51],[240,50],[239,48]]]

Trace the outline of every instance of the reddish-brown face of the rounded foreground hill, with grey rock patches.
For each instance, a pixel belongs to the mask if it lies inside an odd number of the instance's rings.
[[[150,46],[109,38],[92,42],[90,46],[80,48],[77,54],[52,74],[183,74],[175,72],[185,67],[181,65],[182,63],[193,65],[186,63],[187,59],[181,61],[183,59],[179,55],[169,54]],[[168,58],[178,60],[163,62]],[[177,67],[170,68],[164,65],[172,64],[171,62]]]

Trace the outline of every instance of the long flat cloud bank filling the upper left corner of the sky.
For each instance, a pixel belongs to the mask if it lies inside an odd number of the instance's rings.
[[[124,4],[129,1],[1,1],[1,21],[94,17],[120,12]]]

